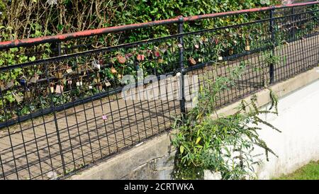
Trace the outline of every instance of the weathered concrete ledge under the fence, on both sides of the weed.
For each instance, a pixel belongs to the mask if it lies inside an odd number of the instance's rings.
[[[308,72],[299,74],[291,79],[283,81],[271,87],[277,96],[283,97],[287,94],[301,89],[313,81],[319,79],[319,67],[311,69]],[[264,89],[257,94],[257,102],[259,106],[267,105],[270,102],[269,90]],[[241,101],[241,100],[240,100]],[[232,103],[217,111],[218,115],[230,115],[235,113],[240,101]],[[250,96],[245,98],[250,101]],[[216,116],[216,115],[213,115]],[[172,171],[172,161],[169,165],[163,165],[174,156],[174,149],[171,145],[171,132],[147,139],[138,147],[133,147],[128,151],[113,156],[111,159],[102,161],[96,166],[71,176],[67,179],[168,179],[168,174]],[[160,163],[160,164],[158,164]],[[151,165],[150,165],[151,164]],[[141,175],[142,173],[134,173],[135,171],[165,171],[165,174],[152,173],[150,176]]]

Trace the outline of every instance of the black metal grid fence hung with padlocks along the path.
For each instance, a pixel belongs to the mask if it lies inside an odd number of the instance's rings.
[[[185,31],[200,21],[213,27]],[[315,2],[1,42],[0,179],[65,178],[169,130],[207,79],[236,67],[218,107],[317,67],[318,22]],[[88,39],[161,25],[177,33],[107,47]]]

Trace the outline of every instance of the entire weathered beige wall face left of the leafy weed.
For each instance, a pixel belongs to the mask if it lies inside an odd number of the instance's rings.
[[[147,139],[69,179],[170,179],[175,155],[171,138],[172,132],[166,132]]]

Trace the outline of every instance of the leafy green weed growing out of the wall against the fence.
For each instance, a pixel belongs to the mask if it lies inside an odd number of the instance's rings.
[[[186,118],[176,120],[173,128],[177,135],[173,144],[177,155],[173,178],[202,179],[206,169],[220,173],[223,179],[255,178],[254,166],[261,160],[253,155],[254,147],[262,147],[267,160],[269,152],[276,155],[258,135],[258,130],[262,130],[260,125],[279,131],[262,119],[263,114],[278,114],[274,93],[271,92],[270,110],[260,110],[257,96],[252,96],[250,102],[241,102],[235,114],[213,118],[218,93],[234,85],[243,69],[244,64],[232,69],[230,76],[218,76],[214,82],[206,80],[198,94],[196,108],[191,109]]]

